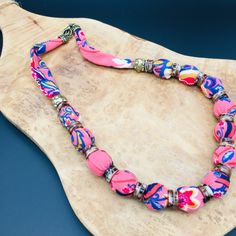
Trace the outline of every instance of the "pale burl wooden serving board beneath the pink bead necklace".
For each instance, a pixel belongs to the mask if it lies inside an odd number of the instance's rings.
[[[1,112],[48,156],[81,222],[94,235],[107,236],[223,235],[233,229],[234,171],[229,193],[194,214],[150,211],[133,198],[120,197],[103,178],[91,174],[50,101],[36,87],[29,67],[33,44],[57,37],[69,23],[79,24],[94,47],[122,58],[168,58],[196,65],[220,77],[234,101],[236,61],[184,56],[96,20],[46,17],[9,1],[0,2]],[[97,145],[112,156],[119,169],[132,171],[141,182],[176,188],[199,184],[213,167],[216,119],[211,100],[198,87],[93,65],[81,57],[74,39],[45,55],[44,61],[62,93],[81,112]]]

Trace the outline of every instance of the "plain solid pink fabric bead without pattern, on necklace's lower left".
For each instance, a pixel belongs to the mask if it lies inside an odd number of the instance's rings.
[[[89,154],[86,163],[93,174],[102,176],[111,165],[112,159],[106,151],[98,149]]]

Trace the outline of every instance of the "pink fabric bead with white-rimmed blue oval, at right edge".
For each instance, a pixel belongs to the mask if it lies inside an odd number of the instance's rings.
[[[219,146],[215,149],[213,154],[214,165],[219,163],[228,166],[229,168],[236,167],[236,153],[235,149],[230,146]]]

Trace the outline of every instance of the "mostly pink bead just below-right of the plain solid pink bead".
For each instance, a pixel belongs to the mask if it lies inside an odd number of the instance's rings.
[[[111,189],[122,196],[132,196],[138,180],[128,170],[118,170],[112,177]]]

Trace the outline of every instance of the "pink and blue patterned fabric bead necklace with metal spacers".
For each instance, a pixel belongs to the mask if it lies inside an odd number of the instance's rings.
[[[203,94],[213,100],[213,113],[218,119],[214,128],[218,147],[213,153],[214,168],[204,176],[201,184],[172,190],[160,183],[139,182],[132,172],[119,170],[111,156],[95,145],[93,133],[82,125],[80,113],[61,94],[51,71],[41,58],[44,53],[68,42],[72,36],[75,37],[82,56],[94,64],[114,68],[133,68],[137,72],[154,73],[157,77],[166,80],[176,78],[183,84],[199,86]],[[103,53],[88,44],[84,32],[76,24],[67,26],[56,39],[35,44],[30,50],[30,58],[32,77],[58,111],[59,120],[70,133],[72,144],[79,153],[84,154],[90,171],[96,176],[103,176],[117,194],[125,197],[133,196],[151,210],[176,207],[190,213],[202,208],[210,199],[221,198],[228,192],[231,170],[236,167],[234,147],[236,104],[227,95],[220,79],[200,72],[195,66],[180,66],[167,59],[120,59]]]

